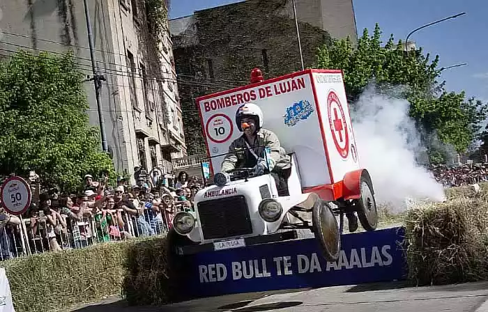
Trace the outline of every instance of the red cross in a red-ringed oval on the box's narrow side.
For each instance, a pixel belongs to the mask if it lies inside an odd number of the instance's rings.
[[[327,96],[327,110],[335,148],[339,155],[346,159],[349,156],[349,133],[344,109],[342,109],[339,97],[334,91],[330,91]]]

